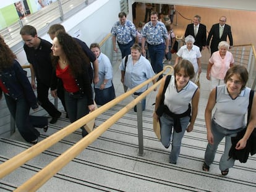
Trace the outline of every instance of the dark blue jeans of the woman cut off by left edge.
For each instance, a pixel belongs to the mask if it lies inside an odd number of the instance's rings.
[[[30,106],[27,102],[27,99],[19,98],[15,100],[6,94],[4,94],[4,96],[6,98],[7,107],[15,120],[15,124],[20,132],[20,135],[28,143],[35,141],[38,136],[40,136],[40,133],[33,127],[32,123],[30,122]]]

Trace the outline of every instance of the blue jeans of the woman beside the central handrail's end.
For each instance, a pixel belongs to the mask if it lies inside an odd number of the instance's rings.
[[[179,152],[181,151],[181,140],[185,131],[187,130],[187,125],[189,125],[189,119],[190,117],[182,117],[180,119],[182,131],[177,133],[173,127],[173,117],[169,117],[165,113],[160,117],[161,143],[165,148],[169,148],[170,141],[172,141],[171,153],[169,155],[169,162],[171,164],[176,164],[177,162]]]

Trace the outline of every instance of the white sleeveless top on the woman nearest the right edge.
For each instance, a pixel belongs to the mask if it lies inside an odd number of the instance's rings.
[[[245,127],[245,114],[249,105],[250,88],[245,87],[236,99],[231,98],[226,85],[216,88],[216,110],[213,120],[221,127],[236,130]]]

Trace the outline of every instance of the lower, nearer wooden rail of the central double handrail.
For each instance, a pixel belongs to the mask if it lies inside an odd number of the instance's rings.
[[[169,67],[171,70],[168,72],[170,74],[173,72],[173,67],[166,66],[166,68]],[[165,69],[166,69],[165,68]],[[161,72],[160,72],[161,73]],[[158,73],[160,75],[160,73]],[[158,76],[158,75],[156,75]],[[151,78],[149,81],[153,81],[156,77]],[[31,177],[27,182],[23,183],[17,190],[15,191],[36,191],[42,186],[44,183],[46,183],[51,177],[53,177],[56,173],[58,173],[59,170],[61,170],[65,165],[67,165],[72,159],[74,159],[77,155],[80,154],[89,144],[93,143],[99,136],[101,136],[106,130],[108,130],[111,125],[113,125],[117,120],[119,120],[124,114],[129,112],[132,107],[134,107],[139,101],[141,101],[147,94],[149,94],[151,91],[153,91],[156,86],[158,86],[161,83],[162,80],[155,83],[155,85],[152,85],[148,88],[147,91],[143,92],[132,100],[127,106],[123,107],[119,112],[114,114],[112,117],[110,117],[108,120],[103,122],[99,127],[97,127],[95,130],[93,130],[91,133],[89,133],[87,136],[82,138],[79,142],[74,144],[71,148],[67,149],[64,153],[61,154],[61,156],[57,157],[52,161],[50,164],[48,164],[45,168],[40,170],[40,172],[36,173],[33,177]],[[134,90],[134,89],[132,89]],[[131,91],[132,91],[131,90]],[[129,91],[130,92],[130,91]],[[119,96],[120,97],[120,96]],[[121,96],[122,98],[122,96]],[[120,98],[120,99],[121,99]],[[104,108],[103,106],[102,108]]]

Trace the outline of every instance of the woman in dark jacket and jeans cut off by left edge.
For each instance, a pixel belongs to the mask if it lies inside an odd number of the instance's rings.
[[[30,107],[38,109],[35,93],[15,54],[0,37],[0,99],[2,93],[20,135],[28,143],[36,144],[40,133],[35,127],[47,131],[47,117],[29,115]]]

